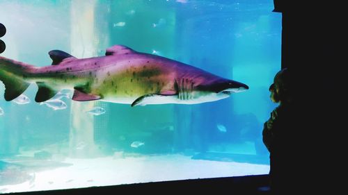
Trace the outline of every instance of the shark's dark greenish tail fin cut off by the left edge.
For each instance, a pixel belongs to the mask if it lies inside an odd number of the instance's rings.
[[[33,66],[0,56],[0,80],[5,85],[5,100],[11,101],[22,94],[30,83],[24,78]]]

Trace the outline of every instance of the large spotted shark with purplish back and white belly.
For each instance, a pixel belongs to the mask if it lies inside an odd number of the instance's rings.
[[[38,85],[38,103],[52,99],[61,90],[73,90],[74,101],[132,106],[205,103],[248,90],[244,83],[120,44],[106,49],[105,56],[79,59],[52,50],[49,57],[52,65],[36,67],[0,56],[4,99],[16,99],[32,83]]]

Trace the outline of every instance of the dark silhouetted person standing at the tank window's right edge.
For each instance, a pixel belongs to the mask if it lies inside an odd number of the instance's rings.
[[[274,76],[269,87],[270,98],[279,105],[271,112],[264,123],[262,141],[269,151],[270,188],[272,194],[286,194],[292,189],[292,160],[296,156],[294,148],[294,130],[296,129],[296,111],[294,90],[290,69],[281,69]],[[292,185],[292,186],[291,186]]]

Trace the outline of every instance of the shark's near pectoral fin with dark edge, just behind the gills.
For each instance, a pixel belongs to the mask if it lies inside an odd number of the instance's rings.
[[[145,94],[133,101],[132,107],[135,105],[174,103],[176,97],[175,94]]]

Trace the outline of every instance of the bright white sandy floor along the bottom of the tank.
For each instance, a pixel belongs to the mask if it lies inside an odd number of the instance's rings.
[[[127,155],[120,152],[103,158],[65,158],[61,163],[68,166],[33,171],[29,173],[31,178],[24,183],[0,185],[0,194],[165,180],[247,176],[269,172],[269,165],[193,160],[191,156],[182,154]]]

